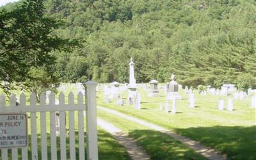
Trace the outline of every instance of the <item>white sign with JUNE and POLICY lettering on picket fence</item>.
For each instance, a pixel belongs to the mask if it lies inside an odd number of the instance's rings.
[[[28,119],[26,113],[0,114],[0,148],[28,145]]]

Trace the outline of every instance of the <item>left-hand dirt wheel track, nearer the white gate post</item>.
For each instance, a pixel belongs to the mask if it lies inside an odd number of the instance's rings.
[[[100,118],[97,118],[97,124],[108,131],[121,145],[123,145],[132,159],[150,159],[150,156],[148,156],[143,148],[136,145],[136,143],[131,138],[129,138],[127,134],[116,128],[113,124],[109,124]]]

